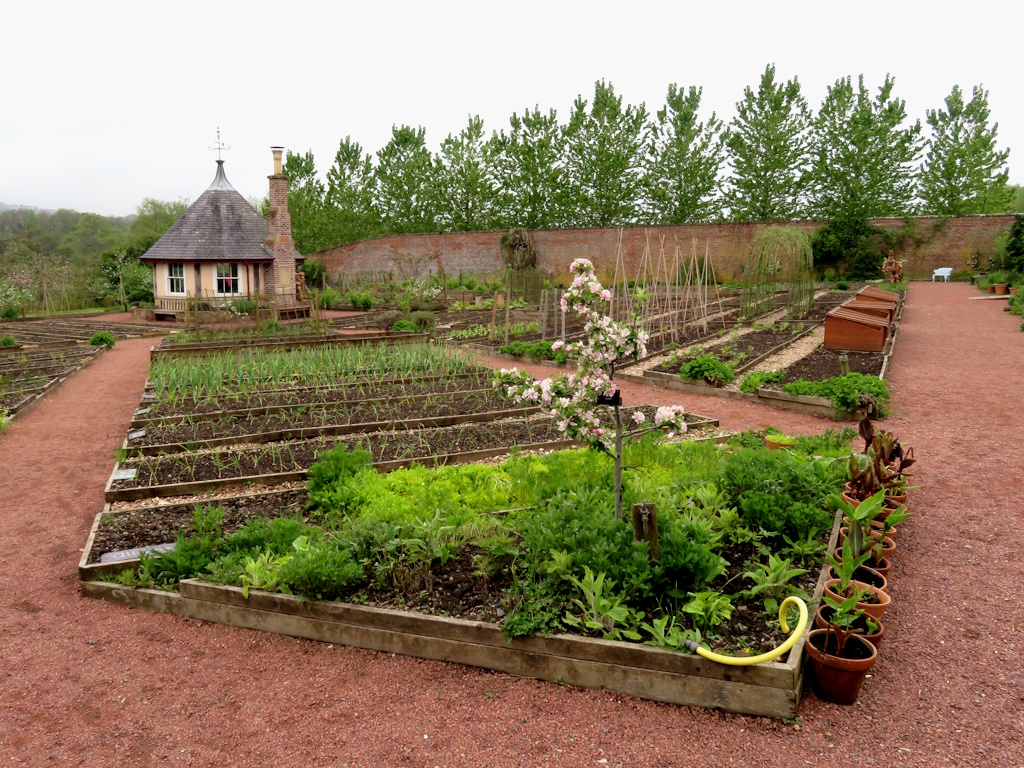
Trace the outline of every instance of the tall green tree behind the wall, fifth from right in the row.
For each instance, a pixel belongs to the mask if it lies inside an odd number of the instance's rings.
[[[627,104],[611,83],[594,84],[594,99],[578,96],[565,126],[565,168],[572,226],[636,223],[644,158],[650,140],[646,106]]]

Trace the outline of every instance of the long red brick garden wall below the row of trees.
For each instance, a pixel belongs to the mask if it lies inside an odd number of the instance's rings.
[[[905,273],[911,278],[927,278],[933,269],[941,266],[967,268],[970,257],[976,252],[983,256],[992,254],[995,237],[1009,227],[1013,220],[1014,217],[1009,214],[947,219],[918,217],[913,219],[916,230],[927,242],[909,253],[900,255],[906,261]],[[821,223],[797,221],[785,225],[811,234]],[[871,223],[895,229],[902,226],[903,219],[872,219]],[[666,256],[669,259],[674,257],[677,245],[682,256],[688,257],[693,240],[696,239],[701,258],[707,241],[719,280],[737,280],[740,267],[746,261],[751,243],[767,225],[769,224],[746,222],[624,227],[623,253],[627,269],[636,274],[647,238],[656,258],[664,237]],[[568,265],[573,259],[583,257],[593,261],[598,276],[608,281],[615,266],[618,231],[617,227],[542,229],[530,232],[530,237],[537,250],[538,266],[542,270],[552,272],[564,281]],[[396,278],[404,279],[439,269],[453,275],[460,271],[479,274],[502,268],[503,233],[396,234],[349,243],[309,254],[308,258],[321,259],[327,266],[328,273],[335,279],[342,273],[354,275],[360,272],[388,271],[393,271]]]

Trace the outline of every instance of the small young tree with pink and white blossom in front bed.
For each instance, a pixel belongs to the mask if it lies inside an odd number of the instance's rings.
[[[540,406],[566,437],[588,442],[611,456],[615,462],[615,517],[622,518],[624,443],[655,430],[686,431],[684,411],[681,406],[659,408],[653,424],[647,426],[647,417],[635,411],[632,431],[626,434],[620,411],[622,395],[612,377],[620,360],[647,354],[647,334],[635,325],[625,326],[597,311],[595,307],[607,302],[611,293],[601,286],[589,260],[577,259],[569,272],[573,279],[562,296],[562,311],[571,310],[584,318],[584,339],[565,347],[577,360],[575,372],[537,381],[525,371],[503,369],[499,383],[514,402]],[[563,342],[552,346],[560,349]],[[610,419],[602,420],[600,410],[610,413]],[[609,422],[611,429],[606,426]]]

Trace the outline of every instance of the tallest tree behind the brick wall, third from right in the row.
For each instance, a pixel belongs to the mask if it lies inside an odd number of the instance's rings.
[[[797,78],[775,82],[768,65],[758,90],[743,90],[725,133],[730,175],[725,204],[735,221],[790,221],[805,213],[811,114]]]

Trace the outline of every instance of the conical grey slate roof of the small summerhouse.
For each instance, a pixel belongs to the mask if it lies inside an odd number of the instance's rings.
[[[273,261],[266,237],[266,219],[231,186],[218,160],[213,183],[141,260]]]

